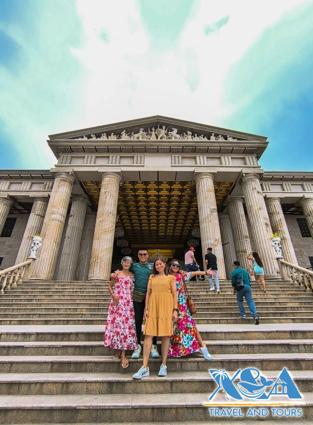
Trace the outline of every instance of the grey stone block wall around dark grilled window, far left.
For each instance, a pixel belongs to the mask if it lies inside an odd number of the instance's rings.
[[[14,266],[29,214],[9,214],[8,217],[16,217],[17,220],[11,237],[0,238],[0,257],[4,257],[1,263],[1,269]]]

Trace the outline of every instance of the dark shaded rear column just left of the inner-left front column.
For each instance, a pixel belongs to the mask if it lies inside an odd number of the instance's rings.
[[[80,241],[80,249],[75,273],[75,280],[87,280],[93,235],[95,232],[96,215],[86,214],[83,226],[83,234]]]

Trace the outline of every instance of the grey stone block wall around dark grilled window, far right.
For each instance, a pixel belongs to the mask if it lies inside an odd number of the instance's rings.
[[[308,267],[310,261],[308,257],[313,257],[313,239],[302,238],[300,229],[297,223],[297,218],[304,218],[303,215],[285,215],[285,220],[289,230],[290,238],[293,243],[293,248],[296,257],[301,267]]]

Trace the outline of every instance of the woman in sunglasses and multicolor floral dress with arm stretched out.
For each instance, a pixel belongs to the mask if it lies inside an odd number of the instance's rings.
[[[195,326],[195,321],[190,314],[186,295],[184,291],[184,283],[195,275],[215,275],[211,269],[207,272],[183,272],[179,271],[181,263],[174,259],[169,263],[169,273],[175,276],[177,301],[178,301],[178,321],[174,328],[174,334],[169,340],[169,356],[180,357],[200,351],[206,360],[211,360],[212,356],[203,343],[201,335]]]

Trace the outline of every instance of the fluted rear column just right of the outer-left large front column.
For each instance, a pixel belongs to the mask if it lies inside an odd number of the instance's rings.
[[[87,204],[86,196],[77,195],[72,199],[57,280],[74,280]]]

